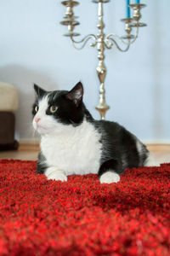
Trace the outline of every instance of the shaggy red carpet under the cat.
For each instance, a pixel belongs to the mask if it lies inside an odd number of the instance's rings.
[[[170,164],[68,182],[0,160],[0,255],[170,255]]]

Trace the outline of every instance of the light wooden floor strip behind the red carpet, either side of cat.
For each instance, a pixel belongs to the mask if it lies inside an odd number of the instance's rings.
[[[147,148],[159,163],[170,163],[170,145],[148,145]],[[37,160],[37,150],[0,152],[0,159]]]

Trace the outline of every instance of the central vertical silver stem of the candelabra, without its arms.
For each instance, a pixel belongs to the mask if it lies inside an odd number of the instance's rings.
[[[110,108],[105,103],[105,75],[106,75],[106,67],[105,67],[105,34],[104,34],[104,21],[103,21],[103,3],[99,2],[98,6],[98,34],[97,34],[97,49],[98,49],[98,67],[96,68],[99,78],[99,104],[96,106],[96,109],[99,111],[101,119],[105,119],[105,113]]]

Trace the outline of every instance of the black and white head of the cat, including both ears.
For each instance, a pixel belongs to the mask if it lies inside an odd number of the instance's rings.
[[[41,135],[60,132],[66,126],[82,124],[86,108],[79,82],[72,90],[46,91],[34,84],[36,102],[32,108],[34,129]]]

